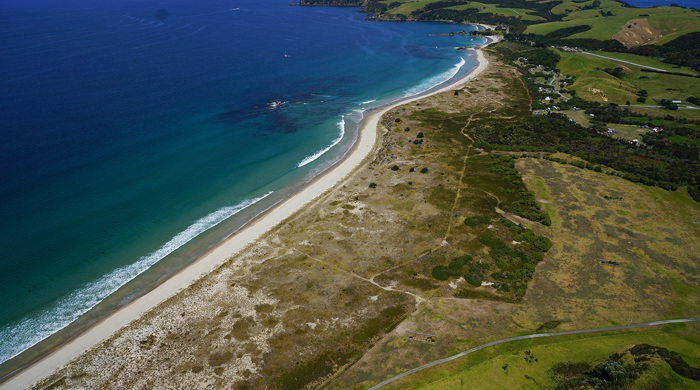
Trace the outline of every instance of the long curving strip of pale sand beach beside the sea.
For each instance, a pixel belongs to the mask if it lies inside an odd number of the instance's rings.
[[[500,40],[500,37],[495,37],[495,39],[494,37],[485,38],[487,43],[481,45],[481,48]],[[379,124],[381,117],[385,113],[424,97],[459,88],[471,78],[478,76],[488,66],[488,61],[484,57],[481,48],[473,49],[476,53],[478,65],[463,76],[414,96],[400,98],[366,111],[364,118],[359,123],[356,142],[334,165],[316,175],[301,189],[289,194],[288,197],[257,214],[239,229],[228,235],[218,245],[203,253],[198,259],[180,269],[177,273],[171,275],[153,290],[95,322],[90,328],[67,339],[55,349],[42,354],[37,360],[28,363],[23,368],[19,368],[14,374],[8,375],[5,378],[5,382],[0,383],[0,389],[26,388],[50,375],[84,351],[109,338],[143,313],[152,310],[161,302],[205,277],[287,218],[302,210],[320,195],[335,188],[339,182],[360,167],[372,155],[372,152],[376,150],[378,147],[376,141],[378,139]]]

